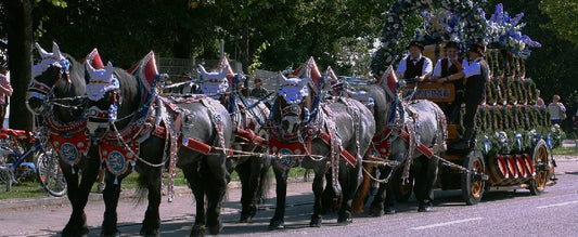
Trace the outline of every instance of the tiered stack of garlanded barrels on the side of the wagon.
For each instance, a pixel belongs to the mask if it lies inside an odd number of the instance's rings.
[[[486,157],[488,184],[524,184],[536,175],[531,154],[550,130],[550,114],[536,105],[536,83],[525,77],[524,60],[500,49],[488,49],[485,58],[491,77],[478,108],[476,141]]]

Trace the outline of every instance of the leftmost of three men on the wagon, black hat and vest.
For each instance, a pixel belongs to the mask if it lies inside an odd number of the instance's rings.
[[[413,78],[415,81],[423,81],[432,74],[432,60],[422,54],[424,45],[420,41],[411,41],[407,49],[410,54],[399,63],[397,76],[404,79]]]

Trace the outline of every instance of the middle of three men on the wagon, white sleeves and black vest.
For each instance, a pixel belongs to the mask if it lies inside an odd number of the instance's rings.
[[[437,61],[433,74],[434,79],[439,83],[445,82],[440,78],[458,74],[468,65],[467,60],[460,57],[460,44],[458,42],[449,41],[444,49],[446,51],[446,57]],[[455,96],[449,110],[446,113],[448,113],[448,121],[453,123],[455,118],[459,117],[460,107],[464,102],[463,77],[451,81],[451,83],[453,84]]]

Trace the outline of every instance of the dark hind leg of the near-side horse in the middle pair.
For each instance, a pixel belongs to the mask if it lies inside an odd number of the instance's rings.
[[[350,168],[344,161],[341,162],[339,168],[339,183],[343,187],[343,197],[342,197],[342,207],[339,209],[339,216],[337,218],[337,223],[339,224],[350,224],[354,222],[351,216],[351,203],[354,202],[354,197],[356,195],[357,188],[361,184],[362,174],[361,174],[361,162],[354,168]],[[342,179],[343,176],[343,179]]]

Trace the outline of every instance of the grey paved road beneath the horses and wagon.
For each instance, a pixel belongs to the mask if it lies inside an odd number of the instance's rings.
[[[487,193],[476,206],[465,206],[458,190],[437,190],[435,211],[416,212],[414,199],[400,205],[399,213],[382,218],[360,214],[354,224],[339,226],[336,214],[324,215],[323,226],[308,226],[312,210],[311,184],[290,184],[286,229],[269,232],[274,198],[259,209],[253,224],[239,224],[239,189],[231,187],[223,206],[224,228],[221,235],[235,236],[576,236],[578,233],[578,159],[558,158],[558,184],[547,187],[540,196],[527,190]],[[271,190],[273,190],[272,188]],[[128,192],[127,192],[128,193]],[[130,196],[130,194],[125,194]],[[271,197],[274,195],[271,194]],[[145,200],[144,200],[145,201]],[[40,207],[30,207],[39,203]],[[134,236],[145,206],[124,198],[118,208],[118,223],[124,236]],[[162,236],[188,236],[194,222],[194,202],[187,189],[179,189],[172,203],[160,205]],[[104,210],[101,196],[91,194],[87,207],[91,236],[100,234]],[[0,203],[0,236],[54,236],[65,225],[70,212],[63,198],[42,198]],[[10,226],[10,227],[9,227]]]

